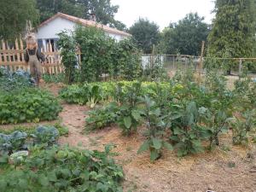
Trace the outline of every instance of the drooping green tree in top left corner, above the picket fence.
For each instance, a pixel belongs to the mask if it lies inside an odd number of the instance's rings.
[[[26,32],[26,20],[38,25],[35,0],[0,0],[0,39],[14,40]]]

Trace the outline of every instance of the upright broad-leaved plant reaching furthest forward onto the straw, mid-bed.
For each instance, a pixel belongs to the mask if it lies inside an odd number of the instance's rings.
[[[148,130],[145,132],[147,140],[138,149],[137,153],[150,151],[150,160],[154,161],[160,158],[162,148],[172,150],[172,145],[163,139],[166,130],[165,115],[161,114],[160,108],[148,96],[144,96],[145,112],[143,115],[146,119]]]

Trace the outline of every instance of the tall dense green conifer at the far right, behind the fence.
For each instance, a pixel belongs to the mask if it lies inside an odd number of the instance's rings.
[[[253,54],[252,0],[217,0],[216,18],[208,36],[208,54],[216,57],[250,57]],[[226,62],[230,73],[234,62]]]

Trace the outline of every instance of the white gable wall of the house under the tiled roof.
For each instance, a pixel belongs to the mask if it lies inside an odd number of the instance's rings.
[[[49,23],[45,24],[44,26],[38,28],[37,38],[59,38],[57,36],[58,33],[66,29],[73,31],[74,26],[75,23],[73,21],[57,17],[54,20],[51,20]]]

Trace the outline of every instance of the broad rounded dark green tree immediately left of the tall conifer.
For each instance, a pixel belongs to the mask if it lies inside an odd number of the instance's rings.
[[[209,26],[197,13],[171,23],[161,33],[161,44],[167,54],[199,55],[201,42],[207,40]]]

